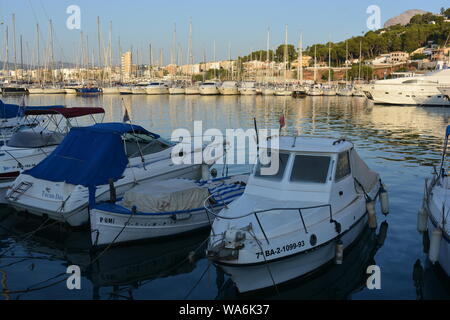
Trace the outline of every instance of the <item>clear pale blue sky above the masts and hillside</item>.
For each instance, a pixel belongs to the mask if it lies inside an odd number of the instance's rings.
[[[80,8],[79,30],[70,30],[66,26],[70,16],[66,10],[71,5]],[[13,61],[13,13],[17,59],[20,60],[19,39],[22,35],[24,63],[33,64],[37,59],[37,23],[40,25],[41,59],[48,57],[43,48],[49,39],[50,19],[54,27],[55,61],[76,62],[79,59],[80,32],[88,38],[92,59],[92,51],[98,48],[97,17],[100,17],[105,46],[112,21],[114,62],[118,61],[120,37],[122,51],[133,48],[136,60],[139,50],[139,62],[145,64],[149,61],[150,43],[155,60],[162,48],[164,62],[170,62],[174,24],[182,62],[186,63],[190,18],[195,61],[203,60],[204,55],[207,60],[212,60],[214,42],[216,58],[228,59],[229,47],[233,58],[253,50],[265,50],[268,28],[271,47],[275,48],[284,43],[285,25],[288,25],[289,43],[297,45],[302,34],[304,47],[361,35],[369,31],[366,10],[371,5],[380,8],[381,25],[408,9],[437,13],[441,7],[450,7],[448,0],[0,0],[0,60],[6,56],[5,30],[8,26],[9,60]]]

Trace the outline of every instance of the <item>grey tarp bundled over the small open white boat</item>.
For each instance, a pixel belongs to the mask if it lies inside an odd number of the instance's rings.
[[[127,191],[122,205],[140,212],[162,213],[202,208],[209,196],[208,188],[183,179],[150,181]]]

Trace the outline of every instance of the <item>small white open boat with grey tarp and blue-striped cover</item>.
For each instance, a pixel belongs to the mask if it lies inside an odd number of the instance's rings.
[[[210,181],[170,179],[144,182],[125,192],[123,200],[90,208],[94,246],[178,236],[209,227],[214,216],[203,202],[211,196],[223,208],[242,195],[248,176]]]

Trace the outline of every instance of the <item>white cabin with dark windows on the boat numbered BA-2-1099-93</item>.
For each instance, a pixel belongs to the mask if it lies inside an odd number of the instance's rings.
[[[333,203],[338,208],[356,198],[357,188],[371,190],[378,182],[378,175],[359,158],[353,144],[343,139],[281,137],[276,150],[278,170],[267,174],[276,163],[271,159],[263,165],[262,157],[246,193],[274,201]]]

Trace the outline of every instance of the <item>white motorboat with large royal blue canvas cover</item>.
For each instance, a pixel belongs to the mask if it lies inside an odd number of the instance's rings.
[[[19,175],[6,199],[19,211],[81,226],[89,220],[88,186],[94,183],[96,199],[101,201],[107,198],[108,179],[117,180],[118,195],[149,180],[199,179],[203,165],[175,165],[173,147],[159,135],[131,124],[72,128],[52,154]],[[203,149],[183,154],[196,152]]]

